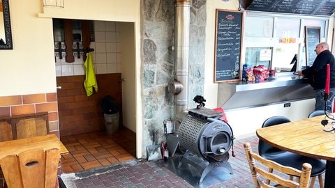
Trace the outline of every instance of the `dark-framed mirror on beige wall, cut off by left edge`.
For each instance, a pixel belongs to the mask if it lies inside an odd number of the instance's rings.
[[[13,49],[8,0],[0,0],[0,49]]]

